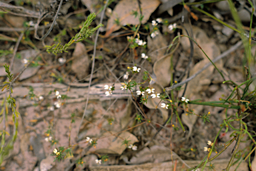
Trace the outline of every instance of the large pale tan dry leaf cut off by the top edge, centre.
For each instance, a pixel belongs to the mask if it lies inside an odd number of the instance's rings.
[[[160,4],[159,0],[141,0],[141,11],[143,14],[143,20],[141,23],[146,23],[151,13],[157,9]],[[132,11],[139,12],[139,5],[134,0],[122,0],[115,6],[110,19],[107,21],[107,33],[105,36],[109,36],[112,32],[121,28],[121,25],[139,25],[139,15],[135,17],[132,15]],[[118,19],[120,25],[117,25],[115,20]]]

